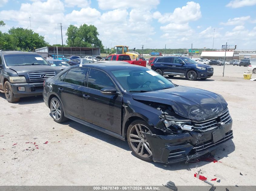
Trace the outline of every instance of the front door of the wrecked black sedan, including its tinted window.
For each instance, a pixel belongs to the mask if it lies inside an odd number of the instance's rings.
[[[116,88],[103,71],[89,69],[87,87],[83,92],[85,121],[121,135],[122,95],[104,95],[102,88]]]

